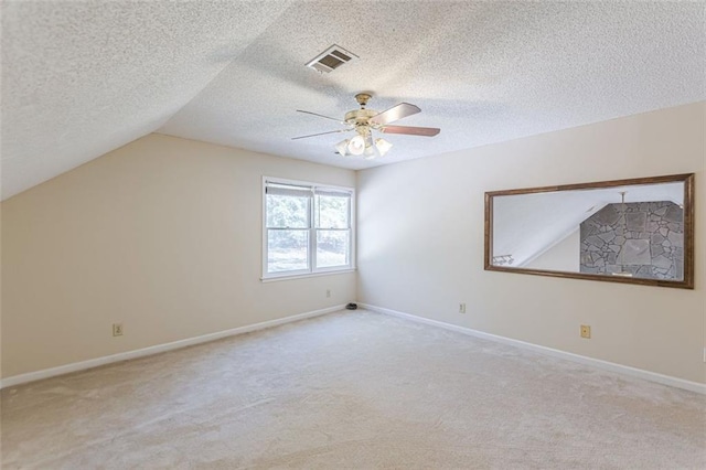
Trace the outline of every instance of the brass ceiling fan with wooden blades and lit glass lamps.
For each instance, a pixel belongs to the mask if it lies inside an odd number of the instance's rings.
[[[434,137],[441,129],[436,127],[411,127],[411,126],[391,126],[391,122],[395,122],[407,116],[416,115],[421,111],[417,106],[409,103],[400,103],[392,108],[382,113],[374,109],[365,109],[367,102],[372,95],[368,93],[359,93],[355,95],[355,99],[361,109],[354,109],[347,111],[343,117],[343,120],[329,116],[323,116],[317,113],[303,111],[297,109],[297,113],[304,113],[308,115],[319,116],[322,118],[334,120],[339,124],[346,126],[345,129],[330,130],[328,132],[311,133],[309,136],[295,137],[292,140],[307,139],[309,137],[324,136],[327,133],[349,132],[355,131],[355,137],[345,139],[335,145],[335,150],[342,156],[364,156],[365,159],[374,159],[375,157],[383,157],[392,148],[392,143],[387,140],[373,136],[373,131],[383,133],[404,133],[407,136],[424,136]]]

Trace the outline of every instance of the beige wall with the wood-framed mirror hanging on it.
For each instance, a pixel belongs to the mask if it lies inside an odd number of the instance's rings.
[[[706,383],[705,108],[359,172],[359,301]],[[696,173],[695,290],[483,270],[485,191],[686,172]]]

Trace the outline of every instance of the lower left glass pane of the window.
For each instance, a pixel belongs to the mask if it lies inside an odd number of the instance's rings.
[[[309,231],[267,231],[267,273],[308,269]]]

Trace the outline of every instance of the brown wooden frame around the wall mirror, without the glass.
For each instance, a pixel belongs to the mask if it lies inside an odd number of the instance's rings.
[[[515,268],[492,264],[493,257],[493,199],[496,196],[533,194],[543,192],[559,192],[574,190],[603,189],[614,186],[684,183],[684,276],[682,280],[649,279],[637,277],[620,277],[602,274],[570,273],[559,270],[545,270],[534,268]],[[681,289],[694,289],[694,173],[672,174],[665,177],[635,178],[630,180],[601,181],[595,183],[563,184],[557,186],[526,188],[518,190],[489,191],[485,192],[485,270],[528,274],[537,276],[552,276],[574,279],[599,280],[607,282],[638,284],[643,286],[674,287]]]

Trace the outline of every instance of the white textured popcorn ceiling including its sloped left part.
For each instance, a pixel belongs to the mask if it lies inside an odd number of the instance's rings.
[[[2,3],[2,196],[158,131],[362,169],[706,99],[704,2]],[[331,44],[360,56],[304,67]],[[366,161],[353,96],[408,102]]]

